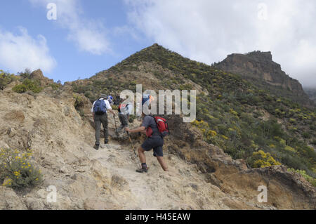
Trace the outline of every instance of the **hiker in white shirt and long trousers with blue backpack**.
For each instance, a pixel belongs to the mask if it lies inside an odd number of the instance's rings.
[[[106,100],[107,95],[101,94],[100,99],[96,100],[93,103],[93,106],[91,108],[91,112],[93,114],[93,120],[94,125],[96,128],[96,144],[94,145],[94,148],[96,150],[99,149],[100,146],[100,131],[101,131],[101,124],[103,124],[104,129],[104,143],[109,143],[109,131],[107,129],[107,111],[110,111],[113,114],[113,117],[115,117],[115,114],[112,110],[112,107],[108,100]]]

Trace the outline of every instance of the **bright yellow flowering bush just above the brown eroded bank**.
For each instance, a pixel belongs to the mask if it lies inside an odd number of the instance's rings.
[[[263,150],[254,152],[252,156],[248,159],[249,165],[252,168],[263,168],[267,166],[281,165],[277,162],[269,152],[265,153]]]

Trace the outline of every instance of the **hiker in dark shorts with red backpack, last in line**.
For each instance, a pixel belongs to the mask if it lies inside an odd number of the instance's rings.
[[[143,105],[147,100],[143,100]],[[154,157],[157,158],[160,166],[164,171],[168,171],[168,167],[164,162],[164,153],[162,147],[164,146],[164,136],[169,134],[168,124],[166,119],[162,117],[154,117],[152,115],[145,115],[143,112],[143,123],[138,129],[130,130],[126,128],[127,133],[138,133],[146,131],[146,140],[144,143],[138,147],[138,156],[141,162],[141,168],[137,169],[138,173],[147,173],[148,167],[146,164],[145,151],[154,150]]]

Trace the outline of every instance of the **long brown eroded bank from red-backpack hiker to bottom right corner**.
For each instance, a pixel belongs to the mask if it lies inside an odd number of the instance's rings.
[[[169,117],[169,122],[178,121]],[[235,195],[244,203],[225,199],[231,209],[316,209],[316,187],[297,173],[287,171],[285,166],[248,169],[242,159],[234,160],[215,145],[203,142],[202,134],[187,124],[176,126],[176,134],[168,137],[169,152],[197,166],[204,173],[205,181],[219,187],[228,195]],[[192,135],[194,137],[192,137]],[[191,136],[191,138],[188,138]],[[268,190],[268,203],[258,204],[258,187]]]

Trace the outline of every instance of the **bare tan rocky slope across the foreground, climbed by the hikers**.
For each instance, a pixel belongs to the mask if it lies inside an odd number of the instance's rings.
[[[0,209],[316,209],[315,187],[301,176],[283,166],[247,169],[178,116],[169,117],[173,134],[164,146],[170,172],[148,152],[150,171],[140,174],[131,145],[114,135],[112,117],[110,145],[93,149],[91,115],[78,114],[68,86],[36,95],[8,86],[0,98],[0,147],[31,148],[44,175],[30,192],[0,187]],[[91,103],[81,107],[88,111]],[[133,136],[134,145],[141,140]],[[55,203],[46,199],[51,185]],[[268,203],[257,201],[259,185],[268,187]]]

